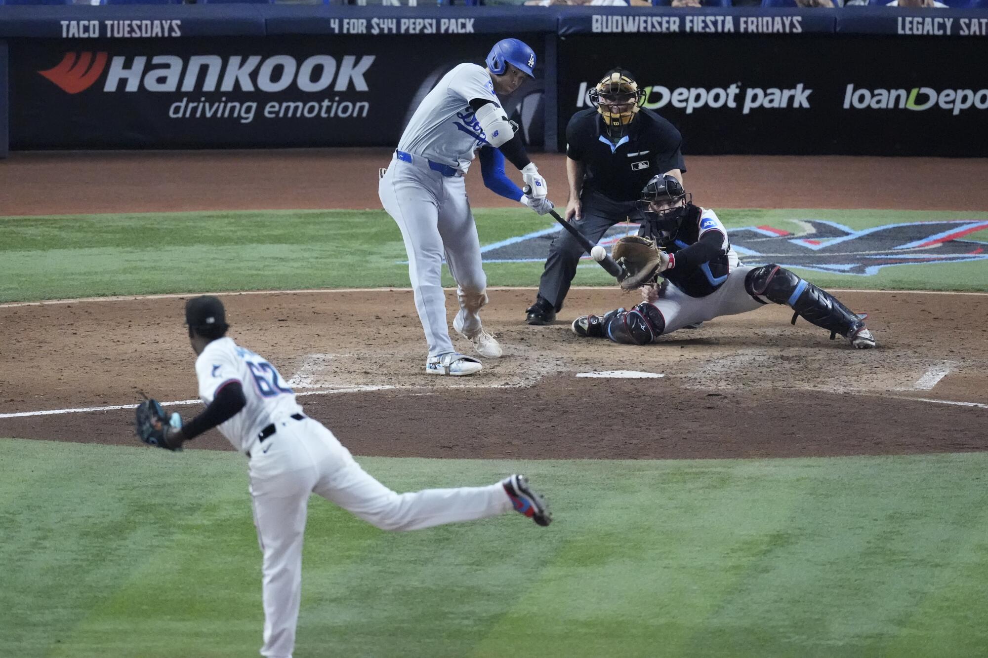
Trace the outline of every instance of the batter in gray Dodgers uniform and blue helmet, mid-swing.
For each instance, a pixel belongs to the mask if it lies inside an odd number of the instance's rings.
[[[456,352],[450,339],[441,282],[444,254],[459,299],[453,329],[481,357],[496,359],[502,354],[497,339],[480,322],[487,277],[463,182],[474,155],[479,151],[484,184],[490,190],[539,214],[552,208],[545,179],[497,97],[511,94],[533,77],[535,52],[522,41],[506,39],[494,44],[486,64],[459,64],[429,92],[405,127],[377,188],[405,242],[415,307],[429,344],[426,372],[431,374],[464,375],[481,369],[479,360]],[[532,187],[531,197],[505,176],[505,158],[521,170],[525,184]]]

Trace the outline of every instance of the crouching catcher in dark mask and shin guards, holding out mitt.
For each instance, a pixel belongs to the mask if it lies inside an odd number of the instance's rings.
[[[639,234],[621,238],[612,256],[624,268],[620,287],[641,288],[644,300],[629,310],[578,317],[572,325],[577,336],[647,345],[677,329],[772,301],[795,311],[793,324],[802,317],[856,348],[875,346],[862,316],[826,290],[775,264],[741,266],[716,213],[694,206],[693,195],[675,177],[653,177],[638,204],[645,216]]]

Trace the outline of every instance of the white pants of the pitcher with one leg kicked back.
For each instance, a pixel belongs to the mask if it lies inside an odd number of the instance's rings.
[[[474,521],[513,509],[500,483],[397,494],[369,475],[333,433],[311,418],[277,423],[265,450],[251,452],[250,493],[264,553],[264,647],[290,658],[302,584],[302,537],[316,493],[388,531]]]

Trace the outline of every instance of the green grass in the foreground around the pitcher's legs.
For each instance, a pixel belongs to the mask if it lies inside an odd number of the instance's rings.
[[[974,656],[988,454],[365,458],[398,490],[523,466],[554,501],[387,534],[313,500],[296,656]],[[242,456],[0,441],[4,655],[248,656]]]

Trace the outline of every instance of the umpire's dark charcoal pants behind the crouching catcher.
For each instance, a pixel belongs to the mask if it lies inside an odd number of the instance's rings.
[[[573,225],[594,244],[617,222],[629,218],[631,221],[641,220],[641,212],[635,208],[634,202],[612,201],[599,192],[584,191],[580,195],[580,203],[583,204],[583,217],[579,221],[574,220]],[[562,300],[569,292],[569,285],[576,276],[576,266],[584,253],[583,245],[565,230],[560,230],[549,246],[545,271],[538,282],[538,296],[552,304],[556,312],[562,309]]]

